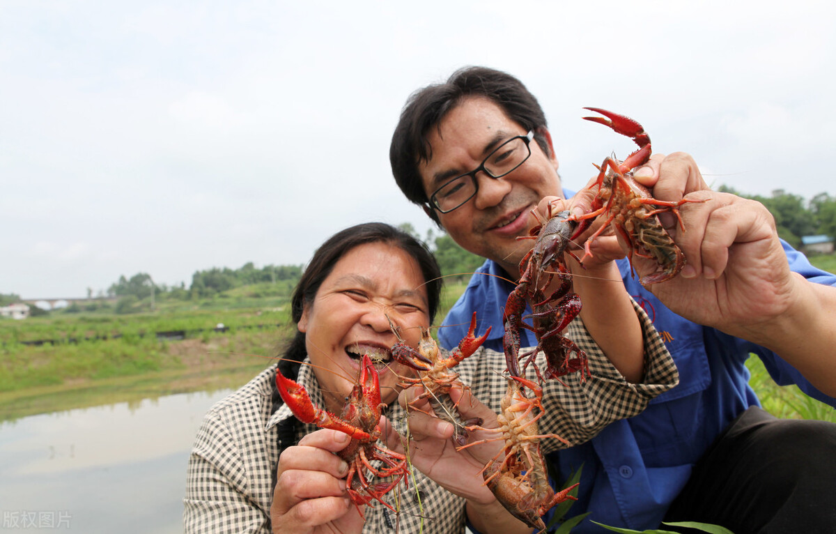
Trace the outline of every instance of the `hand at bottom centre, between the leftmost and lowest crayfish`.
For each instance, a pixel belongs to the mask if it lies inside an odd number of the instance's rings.
[[[406,408],[408,403],[423,391],[421,387],[405,389],[398,398],[400,405]],[[454,403],[458,403],[463,419],[481,418],[483,429],[497,428],[497,414],[474,398],[469,389],[463,389],[461,383],[453,384],[450,396]],[[496,440],[457,451],[451,439],[452,424],[418,411],[425,410],[431,413],[429,400],[421,399],[409,409],[410,441],[406,447],[409,449],[412,465],[446,490],[468,501],[480,504],[496,501],[487,485],[483,485],[481,471],[504,446],[502,434],[489,430],[473,430],[469,434],[468,443],[480,439]],[[385,427],[381,428],[385,429],[386,446],[404,453],[403,440],[391,425],[385,424]]]

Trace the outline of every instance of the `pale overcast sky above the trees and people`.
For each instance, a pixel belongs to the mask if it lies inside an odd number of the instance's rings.
[[[0,0],[0,293],[303,264],[372,220],[424,235],[391,133],[468,64],[538,96],[566,187],[635,147],[595,106],[714,186],[833,195],[834,5]]]

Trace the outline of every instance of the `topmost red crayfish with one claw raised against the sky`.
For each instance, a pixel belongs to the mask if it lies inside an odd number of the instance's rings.
[[[656,215],[668,211],[673,212],[684,231],[685,225],[682,223],[679,207],[685,203],[703,201],[683,198],[679,202],[665,202],[652,198],[644,186],[635,182],[632,174],[633,169],[641,167],[650,160],[650,136],[645,133],[645,128],[630,117],[611,111],[593,107],[584,109],[606,117],[584,117],[585,120],[609,126],[615,132],[630,137],[639,148],[624,162],[619,162],[614,157],[607,157],[600,167],[595,166],[599,170],[598,179],[595,182],[598,193],[595,196],[592,211],[578,218],[581,223],[573,238],[581,234],[593,218],[607,213],[604,224],[587,239],[584,258],[592,255],[589,252],[589,244],[604,231],[604,228],[609,226],[609,223],[612,223],[629,247],[628,258],[634,275],[633,254],[641,258],[653,259],[659,265],[659,269],[654,273],[640,278],[642,285],[670,280],[682,270],[686,259]]]

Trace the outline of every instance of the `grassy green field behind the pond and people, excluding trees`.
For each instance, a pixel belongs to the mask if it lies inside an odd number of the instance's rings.
[[[836,254],[814,256],[811,261],[820,269],[836,271]],[[436,324],[466,284],[446,283]],[[0,421],[172,393],[237,388],[267,367],[268,358],[281,352],[293,332],[286,304],[286,297],[244,287],[215,299],[162,302],[154,313],[53,313],[26,321],[0,321]],[[215,331],[219,323],[225,331]],[[186,337],[157,339],[160,331],[185,331]],[[38,340],[54,343],[24,344]],[[747,365],[750,383],[767,410],[780,417],[836,422],[832,408],[794,386],[776,386],[757,358],[750,358]]]

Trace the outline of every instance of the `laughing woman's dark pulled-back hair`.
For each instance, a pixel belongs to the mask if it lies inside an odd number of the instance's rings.
[[[421,243],[405,231],[385,223],[362,223],[345,228],[332,235],[319,246],[314,256],[308,262],[299,279],[291,298],[291,321],[293,326],[302,319],[306,305],[310,305],[316,297],[319,286],[328,278],[334,265],[337,264],[351,249],[368,243],[385,243],[395,245],[409,254],[421,268],[421,275],[426,284],[427,306],[430,322],[435,319],[438,302],[441,298],[441,270],[438,268],[435,256],[426,244]],[[296,331],[293,340],[286,349],[283,360],[278,363],[278,369],[285,377],[293,380],[298,376],[298,363],[306,356],[305,335]]]

